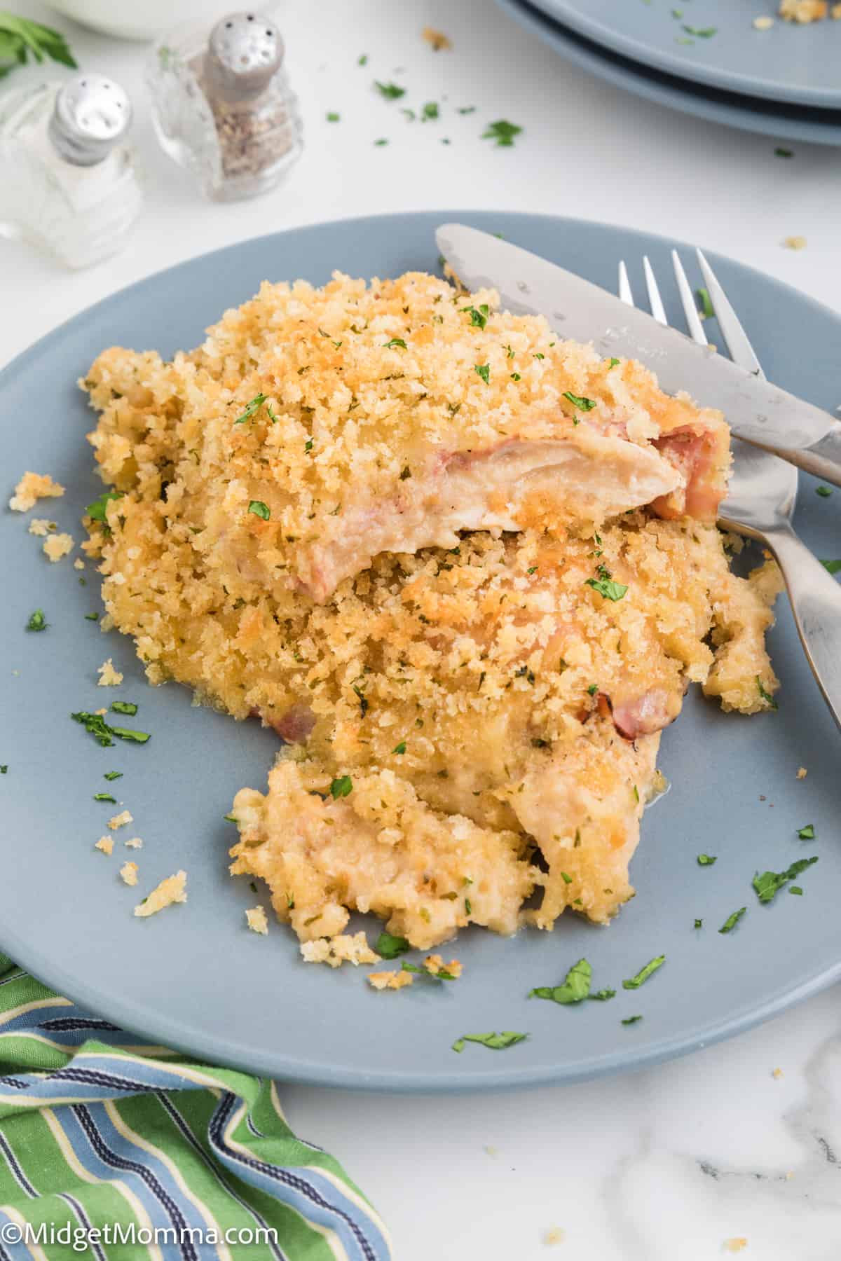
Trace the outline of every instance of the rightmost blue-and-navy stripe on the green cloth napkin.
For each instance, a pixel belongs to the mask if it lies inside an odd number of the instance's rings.
[[[320,1178],[313,1168],[308,1168],[306,1177],[285,1169],[282,1165],[272,1165],[266,1160],[257,1160],[229,1148],[224,1140],[224,1129],[231,1119],[237,1097],[226,1092],[219,1101],[211,1124],[208,1135],[213,1150],[219,1160],[232,1169],[243,1182],[258,1187],[269,1195],[281,1195],[298,1212],[319,1226],[327,1226],[335,1231],[347,1253],[353,1261],[381,1261],[390,1256],[390,1248],[376,1222],[366,1217],[364,1229],[359,1222],[358,1207],[343,1195],[334,1183],[327,1178]],[[318,1183],[325,1183],[324,1190]],[[281,1194],[282,1188],[282,1194]],[[369,1232],[369,1233],[368,1233]]]

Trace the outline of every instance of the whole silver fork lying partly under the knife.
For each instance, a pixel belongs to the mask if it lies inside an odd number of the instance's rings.
[[[748,372],[764,377],[759,359],[712,267],[700,250],[696,253],[730,357]],[[704,324],[677,250],[672,250],[672,265],[690,337],[700,346],[706,346]],[[651,313],[661,324],[667,324],[663,300],[647,257],[643,259],[643,274]],[[619,296],[629,306],[634,305],[624,262],[619,264]],[[719,522],[726,530],[763,543],[777,559],[806,657],[832,718],[841,726],[841,585],[812,555],[792,526],[797,502],[797,469],[779,456],[736,438],[733,439],[733,460],[729,494],[719,509]]]

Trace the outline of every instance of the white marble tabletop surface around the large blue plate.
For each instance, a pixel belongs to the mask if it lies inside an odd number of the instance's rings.
[[[141,45],[92,35],[30,0],[14,8],[61,24],[86,68],[135,93],[148,207],[131,246],[81,274],[0,243],[3,361],[171,262],[372,211],[589,216],[697,241],[841,304],[838,153],[794,145],[784,161],[772,140],[663,115],[556,61],[490,0],[281,4],[306,154],[279,193],[232,206],[200,202],[156,151]],[[450,35],[451,52],[421,40],[427,24]],[[374,77],[403,82],[414,106],[446,97],[444,117],[407,124],[372,93]],[[458,116],[456,105],[477,113]],[[328,110],[340,124],[325,121]],[[516,148],[479,140],[497,117],[525,127]],[[390,144],[376,148],[378,136]],[[808,247],[782,248],[792,235]],[[721,1047],[589,1086],[425,1098],[290,1087],[284,1096],[291,1124],[343,1159],[390,1222],[397,1261],[709,1261],[743,1237],[740,1255],[758,1261],[841,1256],[837,990]],[[564,1232],[555,1247],[546,1243],[554,1229]]]

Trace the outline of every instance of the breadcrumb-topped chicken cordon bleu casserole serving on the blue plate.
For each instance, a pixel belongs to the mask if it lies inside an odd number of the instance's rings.
[[[425,950],[606,922],[688,683],[773,704],[779,576],[730,571],[722,416],[492,290],[266,282],[83,386],[105,627],[282,738],[231,870],[309,957],[354,910]]]

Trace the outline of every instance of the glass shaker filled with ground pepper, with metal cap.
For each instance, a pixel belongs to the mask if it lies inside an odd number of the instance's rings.
[[[284,42],[258,13],[211,30],[180,28],[155,47],[148,84],[164,150],[217,200],[274,188],[301,154],[298,98]]]

